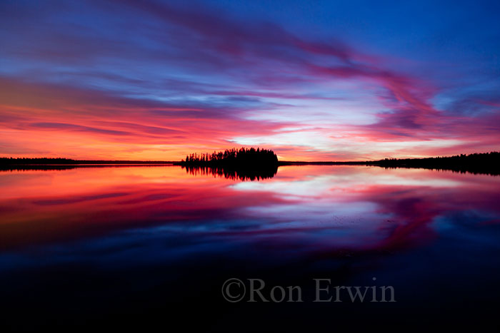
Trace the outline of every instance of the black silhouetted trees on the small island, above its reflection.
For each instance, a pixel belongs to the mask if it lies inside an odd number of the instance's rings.
[[[181,165],[223,166],[233,168],[264,168],[278,165],[278,156],[272,150],[261,148],[226,149],[219,153],[187,155]]]

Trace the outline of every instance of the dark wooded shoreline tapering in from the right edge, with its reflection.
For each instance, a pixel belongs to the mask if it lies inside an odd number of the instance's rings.
[[[453,170],[460,173],[500,175],[500,152],[461,154],[436,158],[386,158],[366,162],[365,164],[378,165],[384,168],[426,168]]]

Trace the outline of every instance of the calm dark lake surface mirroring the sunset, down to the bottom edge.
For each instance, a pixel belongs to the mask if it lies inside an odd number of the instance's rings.
[[[242,182],[157,166],[4,171],[0,189],[9,328],[498,325],[500,177],[309,165]],[[226,302],[231,277],[263,280],[264,297],[300,286],[304,302]],[[312,302],[313,279],[392,286],[396,302]]]

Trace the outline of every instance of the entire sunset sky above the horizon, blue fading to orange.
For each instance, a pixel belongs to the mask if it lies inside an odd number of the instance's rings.
[[[500,150],[499,1],[0,1],[0,155]]]

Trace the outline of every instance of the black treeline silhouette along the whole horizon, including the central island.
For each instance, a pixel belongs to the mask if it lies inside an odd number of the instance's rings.
[[[185,167],[219,168],[210,171],[216,175],[243,175],[245,178],[256,178],[274,175],[279,165],[376,165],[383,168],[426,168],[436,170],[453,170],[459,173],[487,173],[500,175],[500,152],[474,153],[435,158],[385,158],[374,161],[351,162],[292,162],[278,161],[272,150],[261,148],[228,149],[211,154],[191,154],[181,162],[144,161],[144,160],[72,160],[70,158],[0,158],[1,170],[29,170],[32,168],[63,168],[64,165],[183,165]],[[221,170],[220,168],[224,168]],[[190,171],[189,171],[190,172]],[[236,175],[236,178],[239,176]]]

